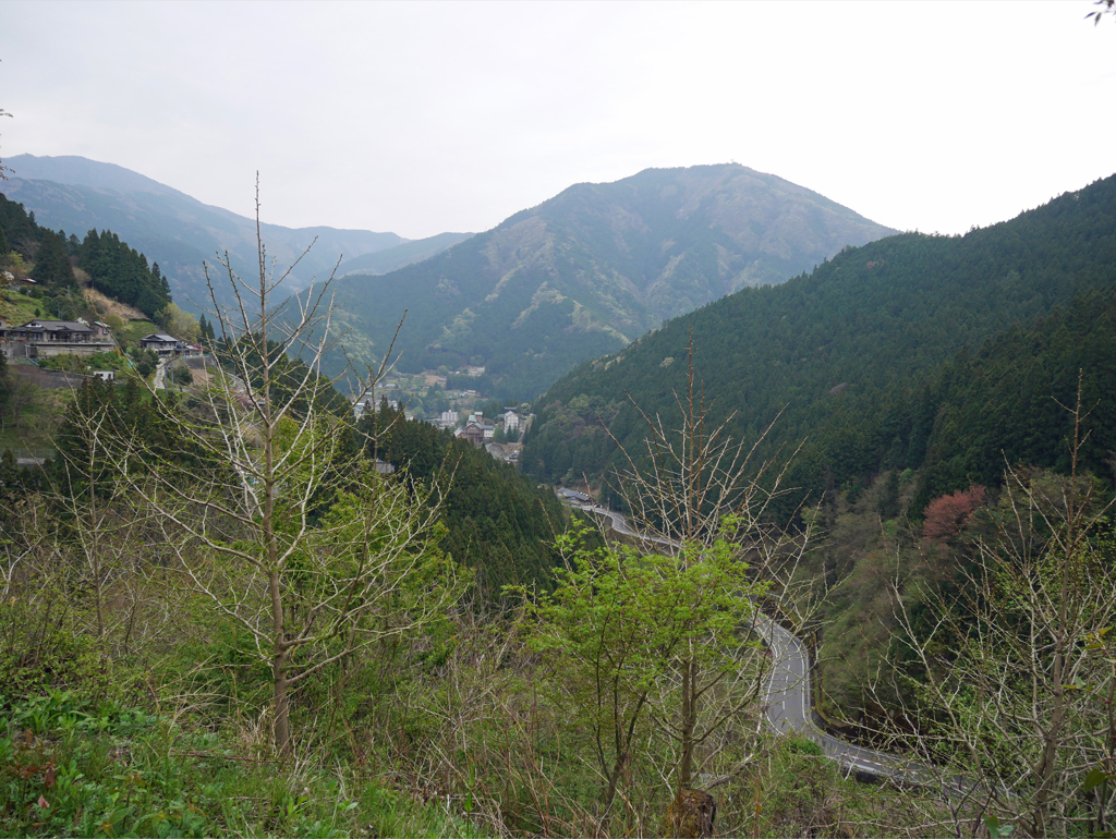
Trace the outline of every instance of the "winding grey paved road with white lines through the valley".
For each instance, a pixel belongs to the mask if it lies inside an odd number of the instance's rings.
[[[625,518],[613,510],[596,504],[580,504],[577,509],[609,520],[613,530],[625,536],[638,537],[654,544],[677,547],[662,537],[638,533],[628,527]],[[839,740],[821,730],[817,712],[810,701],[810,653],[805,642],[789,629],[762,613],[757,625],[771,650],[771,675],[767,684],[767,720],[780,734],[805,736],[819,746],[822,753],[837,761],[849,772],[888,778],[907,783],[932,782],[935,774],[910,761],[886,752]]]

